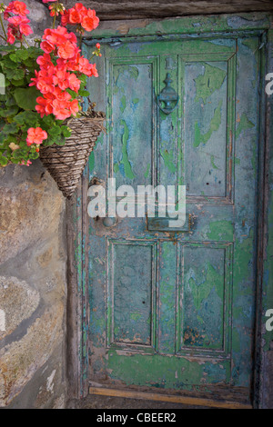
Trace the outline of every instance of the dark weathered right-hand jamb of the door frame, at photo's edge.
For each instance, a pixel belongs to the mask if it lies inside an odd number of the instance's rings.
[[[265,93],[265,75],[273,72],[273,29],[267,32],[267,45],[263,47],[261,70],[264,75],[261,82],[260,116],[260,172],[258,192],[258,273],[257,273],[257,315],[255,337],[254,371],[254,407],[273,408],[273,383],[268,378],[273,367],[267,358],[272,353],[273,333],[265,328],[265,313],[273,308],[273,95]],[[271,120],[270,120],[271,119]],[[271,144],[270,144],[271,142]],[[267,383],[268,382],[268,383]]]

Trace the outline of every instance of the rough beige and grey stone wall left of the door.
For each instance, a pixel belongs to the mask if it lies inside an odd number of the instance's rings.
[[[47,9],[25,3],[32,37],[41,36]],[[66,403],[65,207],[39,160],[0,168],[1,407]]]

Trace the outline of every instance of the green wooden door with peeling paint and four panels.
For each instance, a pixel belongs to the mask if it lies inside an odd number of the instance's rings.
[[[258,197],[258,36],[102,41],[89,89],[107,134],[91,179],[184,184],[189,233],[90,219],[89,379],[158,391],[252,381]],[[91,53],[93,46],[84,46]],[[179,96],[164,114],[167,73]],[[106,84],[105,84],[106,82]]]

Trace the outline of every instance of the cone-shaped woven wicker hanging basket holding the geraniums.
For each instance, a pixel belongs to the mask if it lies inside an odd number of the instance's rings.
[[[65,145],[41,146],[40,159],[56,184],[70,198],[85,169],[89,154],[94,149],[98,135],[104,130],[104,117],[79,117],[70,119],[72,130]]]

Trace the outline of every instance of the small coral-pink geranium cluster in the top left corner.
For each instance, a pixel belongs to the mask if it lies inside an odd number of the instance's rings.
[[[22,40],[24,35],[33,33],[28,25],[30,20],[26,18],[27,14],[29,10],[26,9],[25,3],[16,0],[5,8],[4,19],[8,22],[7,43],[10,45],[13,45],[15,40]]]

